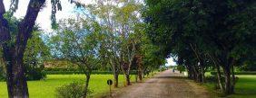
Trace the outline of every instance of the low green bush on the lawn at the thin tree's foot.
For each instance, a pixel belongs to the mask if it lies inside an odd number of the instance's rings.
[[[57,87],[55,92],[57,98],[82,98],[84,96],[84,84],[73,82],[69,85]],[[87,96],[93,93],[89,89],[86,92]]]

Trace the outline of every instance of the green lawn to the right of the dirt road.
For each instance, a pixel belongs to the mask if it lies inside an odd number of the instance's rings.
[[[235,85],[235,94],[228,98],[256,98],[256,75],[237,75],[239,80]],[[207,84],[210,89],[213,84]]]

